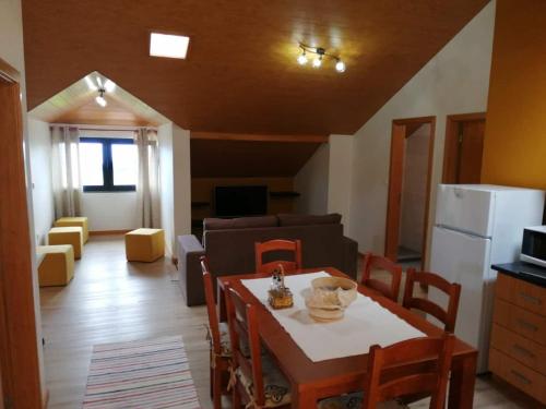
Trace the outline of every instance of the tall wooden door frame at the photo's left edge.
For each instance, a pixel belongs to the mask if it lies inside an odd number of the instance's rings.
[[[0,371],[2,402],[45,405],[36,334],[20,74],[0,59]]]

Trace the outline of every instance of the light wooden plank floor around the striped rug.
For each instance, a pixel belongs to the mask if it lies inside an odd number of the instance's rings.
[[[186,306],[178,282],[171,280],[175,273],[166,260],[127,263],[122,237],[92,237],[72,282],[40,289],[49,408],[81,407],[93,345],[177,334],[183,336],[202,407],[212,408],[206,311]],[[485,377],[478,378],[475,407],[534,406]]]

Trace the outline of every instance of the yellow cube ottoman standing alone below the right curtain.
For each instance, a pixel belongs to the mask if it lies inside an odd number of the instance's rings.
[[[126,233],[129,262],[153,262],[165,255],[165,232],[162,229],[136,229]]]

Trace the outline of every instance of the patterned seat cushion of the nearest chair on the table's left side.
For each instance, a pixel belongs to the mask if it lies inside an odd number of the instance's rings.
[[[292,401],[290,385],[283,373],[278,370],[270,357],[262,357],[263,390],[265,395],[265,408],[276,408],[288,405]],[[253,383],[251,378],[238,370],[237,375],[249,396],[253,394]]]

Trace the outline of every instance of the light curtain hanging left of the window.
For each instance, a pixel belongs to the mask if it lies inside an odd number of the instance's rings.
[[[54,125],[51,142],[55,217],[81,216],[80,131]]]

